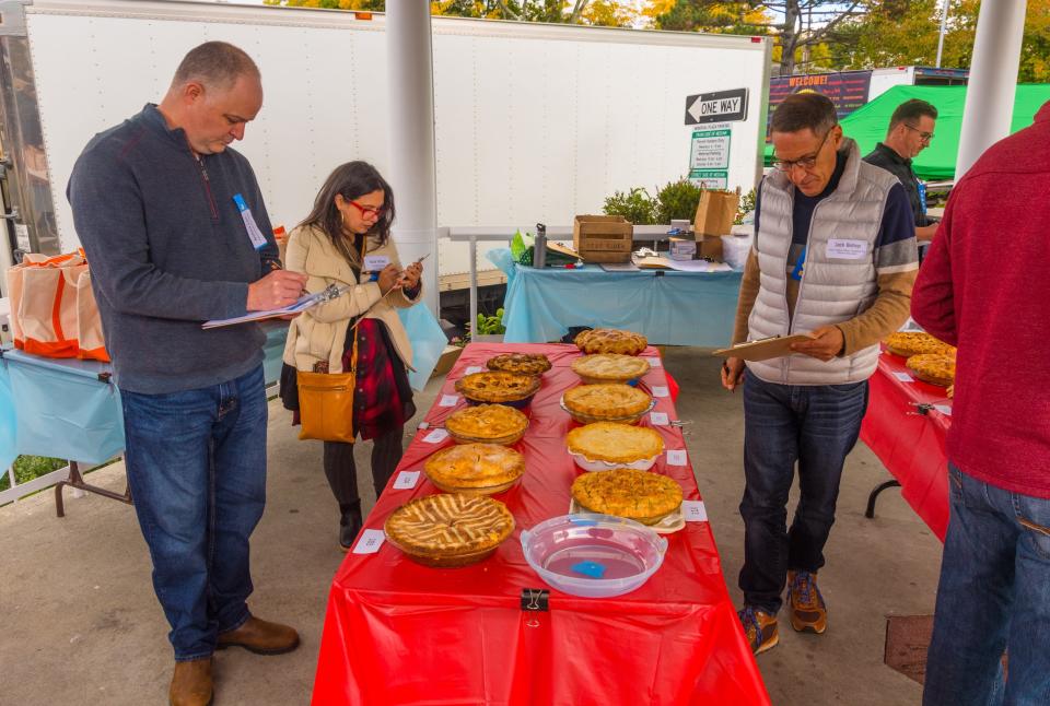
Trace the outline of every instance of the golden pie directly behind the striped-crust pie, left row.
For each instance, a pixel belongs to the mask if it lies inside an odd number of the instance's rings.
[[[457,444],[427,459],[423,472],[448,493],[502,493],[525,472],[525,458],[499,444]]]

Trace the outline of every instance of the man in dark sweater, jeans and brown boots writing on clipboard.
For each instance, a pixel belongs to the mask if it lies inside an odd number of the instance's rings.
[[[210,703],[215,649],[299,645],[294,629],[246,604],[248,538],[266,499],[265,336],[255,323],[200,327],[287,306],[305,283],[280,269],[255,174],[229,146],[261,105],[255,62],[203,44],[160,105],[91,140],[67,191],[120,388],[153,587],[172,626],[177,706]]]

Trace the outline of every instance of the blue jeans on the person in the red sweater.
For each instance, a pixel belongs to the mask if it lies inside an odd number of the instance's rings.
[[[950,463],[948,480],[952,518],[922,703],[1050,704],[1050,499]]]

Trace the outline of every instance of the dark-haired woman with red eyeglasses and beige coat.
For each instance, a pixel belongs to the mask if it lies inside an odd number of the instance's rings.
[[[393,222],[390,186],[371,164],[349,162],[336,167],[313,211],[289,235],[284,258],[289,270],[307,275],[308,292],[353,285],[292,320],[280,393],[298,422],[298,372],[351,369],[357,337],[353,430],[372,439],[376,496],[401,459],[404,425],[416,413],[406,373],[412,349],[396,309],[420,301],[423,268],[418,262],[401,268],[390,240]],[[339,544],[346,551],[361,529],[353,444],[325,442],[324,467],[339,503]]]

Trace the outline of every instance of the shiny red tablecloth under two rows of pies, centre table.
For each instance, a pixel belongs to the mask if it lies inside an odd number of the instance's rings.
[[[663,566],[631,593],[587,599],[551,589],[549,612],[521,610],[523,589],[548,587],[525,562],[518,534],[568,511],[569,487],[580,472],[564,444],[574,423],[559,407],[561,395],[580,383],[569,368],[579,351],[471,344],[442,395],[455,395],[453,381],[468,367],[509,350],[545,353],[553,363],[528,410],[528,433],[515,447],[525,455],[525,476],[497,496],[517,529],[493,556],[464,568],[420,566],[389,543],[376,554],[348,554],[328,599],[313,703],[768,704],[708,522],[668,536]],[[654,367],[643,384],[666,386],[663,368]],[[430,424],[456,409],[440,407],[442,395],[427,414]],[[657,400],[656,411],[676,419],[669,397]],[[685,448],[679,430],[656,428],[668,449]],[[421,470],[428,456],[452,443],[429,444],[427,434],[412,439],[366,529],[382,529],[390,511],[436,492],[422,474],[415,489],[393,487],[400,471]],[[691,467],[665,461],[661,457],[653,470],[677,480],[687,499],[699,499]]]

